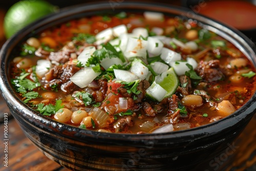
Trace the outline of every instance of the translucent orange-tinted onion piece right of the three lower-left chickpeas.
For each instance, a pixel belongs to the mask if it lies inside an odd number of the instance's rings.
[[[100,110],[99,108],[94,108],[90,113],[91,116],[99,125],[100,128],[108,126],[107,121],[110,120],[108,114]]]

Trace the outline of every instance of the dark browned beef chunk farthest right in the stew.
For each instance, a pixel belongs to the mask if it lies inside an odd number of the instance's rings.
[[[222,80],[224,74],[220,70],[219,60],[200,61],[198,67],[195,69],[197,74],[206,82],[214,83]]]

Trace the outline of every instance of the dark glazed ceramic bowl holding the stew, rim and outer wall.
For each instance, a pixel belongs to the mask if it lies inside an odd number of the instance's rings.
[[[58,123],[28,108],[13,91],[9,75],[11,54],[37,32],[81,16],[120,11],[157,11],[193,18],[236,45],[256,66],[256,48],[237,30],[178,7],[144,3],[97,3],[63,9],[26,27],[1,50],[1,93],[26,136],[50,159],[74,170],[199,170],[212,167],[212,159],[229,152],[236,138],[256,112],[256,95],[224,119],[194,129],[165,134],[110,134]],[[226,152],[225,152],[226,151]],[[205,168],[202,164],[205,164]]]

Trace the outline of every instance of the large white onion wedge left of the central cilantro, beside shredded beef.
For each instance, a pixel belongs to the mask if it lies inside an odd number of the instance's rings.
[[[93,71],[92,67],[83,68],[77,71],[70,80],[80,88],[85,88],[92,82],[100,73]]]

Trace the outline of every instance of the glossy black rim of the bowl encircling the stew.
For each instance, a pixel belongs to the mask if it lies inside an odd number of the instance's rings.
[[[14,47],[13,42],[19,42],[24,36],[21,36],[21,34],[25,34],[25,37],[28,36],[28,34],[33,31],[34,29],[38,28],[38,26],[43,26],[44,24],[47,24],[51,21],[57,20],[58,18],[63,18],[65,16],[70,16],[72,14],[78,14],[79,12],[87,12],[91,10],[97,10],[97,9],[110,9],[110,4],[106,2],[97,2],[97,3],[87,3],[84,5],[76,5],[72,7],[68,7],[65,9],[61,9],[58,13],[50,14],[42,19],[37,20],[33,24],[27,26],[26,28],[20,30],[16,34],[14,34],[10,39],[6,41],[3,48],[1,49],[0,56],[1,56],[1,79],[0,79],[0,88],[1,92],[3,94],[4,99],[9,104],[9,108],[19,108],[19,110],[22,110],[24,112],[23,119],[27,120],[27,122],[34,124],[38,126],[41,130],[49,131],[53,130],[53,128],[58,127],[61,128],[60,130],[68,130],[67,132],[56,132],[56,134],[74,138],[74,135],[84,135],[86,137],[95,137],[97,139],[103,138],[103,139],[125,139],[126,141],[134,141],[134,140],[143,140],[143,139],[155,139],[155,135],[161,135],[163,139],[169,139],[169,138],[185,138],[185,137],[195,137],[196,135],[213,135],[221,132],[222,130],[228,129],[228,127],[233,126],[237,122],[247,118],[248,114],[255,113],[256,108],[256,94],[252,96],[252,98],[244,105],[242,108],[234,112],[233,114],[221,119],[220,121],[212,122],[207,125],[202,125],[199,127],[195,127],[193,129],[189,130],[183,130],[183,131],[175,131],[175,132],[169,132],[169,133],[162,133],[162,134],[113,134],[113,133],[99,133],[95,131],[90,130],[82,130],[78,129],[76,127],[59,123],[57,121],[54,121],[50,118],[47,118],[45,116],[40,115],[39,113],[33,111],[32,109],[29,109],[26,107],[26,105],[17,97],[15,96],[15,92],[11,88],[8,78],[5,73],[8,73],[7,68],[5,67],[5,63],[8,63],[8,55],[10,55],[11,49]],[[208,17],[202,16],[200,14],[196,14],[193,11],[182,8],[182,7],[176,7],[166,4],[156,4],[156,3],[145,3],[145,2],[122,2],[117,6],[117,9],[120,8],[129,8],[133,6],[134,9],[140,9],[143,10],[144,8],[148,10],[150,8],[152,11],[158,11],[156,9],[165,10],[165,11],[172,11],[180,13],[180,14],[190,14],[196,17],[197,19],[206,20],[208,23],[215,27],[222,27],[225,29],[225,31],[228,31],[230,34],[234,34],[234,37],[239,39],[239,41],[243,42],[244,44],[240,46],[245,46],[247,50],[249,50],[251,58],[254,58],[252,61],[255,65],[256,62],[256,47],[251,42],[251,40],[246,37],[244,34],[242,34],[240,31],[229,28],[225,24],[220,24],[220,22],[216,22],[213,19],[209,19]],[[113,9],[114,11],[114,9]],[[161,12],[161,11],[160,11]],[[188,17],[190,18],[190,17]],[[16,41],[18,39],[18,41]],[[238,40],[237,40],[238,41]],[[16,44],[15,44],[16,46]],[[241,48],[240,47],[240,48]],[[248,52],[247,56],[248,56]],[[250,60],[252,60],[249,58]],[[16,115],[16,114],[14,114]],[[19,114],[18,114],[19,115]],[[41,124],[44,124],[44,126],[40,126]]]

